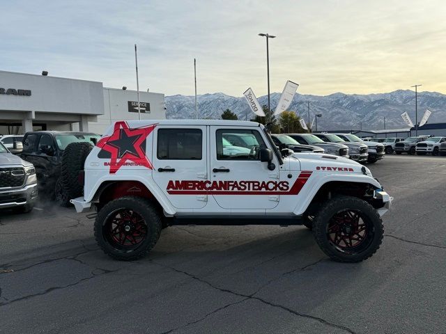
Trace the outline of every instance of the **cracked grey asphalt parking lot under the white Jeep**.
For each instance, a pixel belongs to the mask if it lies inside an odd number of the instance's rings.
[[[446,333],[446,157],[369,168],[394,202],[359,264],[260,225],[167,228],[117,262],[73,208],[0,212],[0,333]]]

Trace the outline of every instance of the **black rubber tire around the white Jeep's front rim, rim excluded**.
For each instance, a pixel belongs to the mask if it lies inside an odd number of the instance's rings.
[[[367,219],[370,224],[371,237],[367,248],[360,252],[340,250],[328,237],[328,226],[332,217],[344,211],[345,209],[352,209],[360,212],[363,219]],[[369,203],[351,196],[336,196],[332,200],[328,200],[321,207],[316,219],[313,223],[313,234],[316,243],[321,250],[328,255],[332,260],[337,262],[361,262],[371,257],[376,253],[383,241],[384,227],[383,221],[374,207]]]

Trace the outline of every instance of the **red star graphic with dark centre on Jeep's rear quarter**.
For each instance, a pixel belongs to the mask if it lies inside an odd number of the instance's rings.
[[[155,129],[155,126],[156,124],[130,129],[127,122],[116,122],[112,136],[101,138],[98,141],[99,148],[112,154],[110,174],[116,173],[127,161],[132,161],[136,166],[153,169],[151,161],[146,156],[146,148],[142,148],[141,144]],[[131,147],[129,147],[129,143]]]

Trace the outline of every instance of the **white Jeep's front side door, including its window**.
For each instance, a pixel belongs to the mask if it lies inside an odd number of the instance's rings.
[[[279,163],[259,159],[266,148],[261,129],[210,127],[210,182],[207,192],[224,209],[272,209],[279,204]]]

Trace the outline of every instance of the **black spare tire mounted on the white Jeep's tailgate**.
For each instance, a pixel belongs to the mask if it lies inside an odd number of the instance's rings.
[[[79,184],[79,172],[84,170],[86,157],[93,146],[90,143],[70,143],[63,150],[61,164],[61,182],[69,199],[84,194],[84,185]]]

